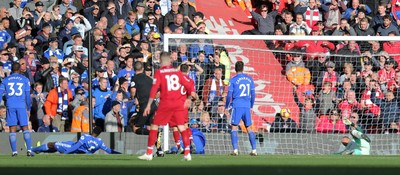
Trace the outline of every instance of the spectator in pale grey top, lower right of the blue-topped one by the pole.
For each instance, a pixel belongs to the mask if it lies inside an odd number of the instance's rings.
[[[112,102],[112,110],[105,118],[106,132],[124,132],[124,116],[121,114],[121,104],[118,101]]]

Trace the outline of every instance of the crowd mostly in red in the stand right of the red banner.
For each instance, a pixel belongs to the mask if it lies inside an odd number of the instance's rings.
[[[399,132],[400,42],[345,40],[346,36],[399,36],[399,1],[256,2],[257,10],[249,8],[255,28],[244,34],[343,37],[342,42],[266,42],[269,49],[279,51],[275,56],[296,87],[300,121],[288,131],[343,133],[347,129],[342,119],[353,118],[365,132]],[[280,125],[275,127],[293,126],[276,121]]]

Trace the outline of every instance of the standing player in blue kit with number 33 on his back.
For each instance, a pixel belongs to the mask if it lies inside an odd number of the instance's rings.
[[[10,145],[12,156],[17,156],[17,125],[22,127],[24,139],[28,150],[27,156],[32,157],[31,133],[28,129],[28,112],[31,110],[30,83],[29,79],[20,73],[21,65],[13,63],[11,70],[13,74],[4,78],[0,85],[0,97],[5,92],[7,107],[7,126],[10,127]],[[1,101],[1,99],[0,99]],[[25,104],[21,105],[21,104]]]

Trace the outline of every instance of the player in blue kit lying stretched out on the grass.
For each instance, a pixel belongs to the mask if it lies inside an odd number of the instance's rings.
[[[111,150],[107,147],[100,138],[97,138],[101,133],[100,127],[93,129],[92,135],[84,134],[77,142],[66,141],[66,142],[49,142],[47,144],[40,145],[39,147],[32,148],[33,152],[40,153],[54,153],[59,152],[61,154],[93,154],[97,150],[102,149],[108,154],[121,154],[120,152]]]

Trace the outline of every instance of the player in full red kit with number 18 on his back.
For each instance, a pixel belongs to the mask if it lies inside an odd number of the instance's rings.
[[[141,160],[153,159],[153,147],[157,139],[158,126],[169,124],[170,126],[177,126],[179,132],[181,132],[185,146],[183,159],[190,161],[192,160],[189,143],[190,133],[184,126],[187,118],[187,103],[185,102],[186,93],[191,94],[193,97],[196,97],[196,93],[190,79],[171,66],[169,53],[161,54],[161,65],[161,68],[154,73],[153,87],[143,115],[147,116],[150,113],[151,103],[158,91],[160,91],[160,103],[150,126],[146,154],[138,158]]]

